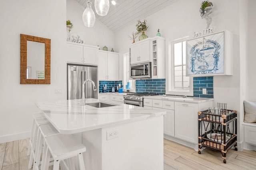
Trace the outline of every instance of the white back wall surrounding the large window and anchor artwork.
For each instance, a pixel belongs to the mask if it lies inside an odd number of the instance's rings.
[[[206,27],[206,20],[201,19],[199,8],[202,0],[178,0],[155,14],[146,17],[148,37],[156,36],[160,29],[162,37],[166,39],[166,55],[168,55],[168,42],[185,36],[192,38],[193,31],[201,31]],[[238,0],[212,0],[212,25],[215,32],[228,29],[234,34],[233,76],[214,76],[214,101],[225,102],[228,109],[239,110],[239,6]],[[228,8],[226,8],[228,6]],[[142,18],[143,20],[144,18]],[[132,40],[128,35],[136,31],[136,23],[115,33],[116,49],[120,53],[128,52]],[[138,41],[138,38],[136,39]]]

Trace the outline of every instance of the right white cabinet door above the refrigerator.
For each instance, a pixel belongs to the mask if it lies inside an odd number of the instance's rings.
[[[84,64],[98,64],[98,49],[84,46]]]

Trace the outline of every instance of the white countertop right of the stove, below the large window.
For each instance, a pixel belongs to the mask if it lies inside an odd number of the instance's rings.
[[[164,97],[162,95],[158,96],[144,96],[144,99],[153,99],[153,100],[167,100],[167,101],[176,101],[176,102],[192,102],[192,103],[202,103],[213,101],[212,98],[194,98],[194,97],[186,97],[186,98],[172,98],[172,97]]]

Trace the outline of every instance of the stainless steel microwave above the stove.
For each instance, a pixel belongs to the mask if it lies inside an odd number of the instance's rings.
[[[151,78],[151,62],[131,64],[130,78]]]

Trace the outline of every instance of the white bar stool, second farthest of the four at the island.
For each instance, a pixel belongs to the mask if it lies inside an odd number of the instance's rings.
[[[37,143],[37,138],[38,138],[38,134],[39,134],[39,127],[41,125],[46,125],[48,123],[50,123],[45,117],[39,117],[39,118],[35,118],[35,125],[34,125],[34,132],[33,132],[33,137],[31,140],[31,149],[30,149],[30,158],[29,158],[29,162],[28,162],[28,169],[32,168],[32,164],[33,164],[33,160],[35,158],[35,150],[36,150],[36,143]],[[33,128],[32,128],[33,129]]]

